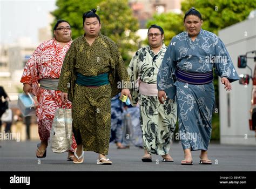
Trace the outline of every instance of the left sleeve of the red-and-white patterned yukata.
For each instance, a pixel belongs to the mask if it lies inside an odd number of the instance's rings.
[[[32,86],[33,95],[38,95],[38,63],[40,61],[42,44],[37,47],[25,64],[25,68],[22,74],[21,83],[30,84]]]

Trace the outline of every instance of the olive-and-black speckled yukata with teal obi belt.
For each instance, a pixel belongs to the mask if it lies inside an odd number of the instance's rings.
[[[127,85],[129,76],[110,38],[99,33],[91,45],[84,36],[73,41],[64,59],[58,89],[68,93],[72,102],[73,132],[84,151],[108,153],[111,98],[121,91],[120,82]]]

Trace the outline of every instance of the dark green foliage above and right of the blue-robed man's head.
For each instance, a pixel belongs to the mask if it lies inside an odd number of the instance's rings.
[[[181,3],[186,12],[194,7],[204,21],[202,28],[218,35],[220,29],[244,21],[250,12],[256,9],[255,0],[187,0]]]

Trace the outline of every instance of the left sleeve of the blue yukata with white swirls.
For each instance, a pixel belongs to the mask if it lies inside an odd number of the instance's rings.
[[[165,52],[163,61],[157,74],[157,89],[165,91],[167,97],[174,99],[176,96],[175,71],[177,68],[175,46],[176,42],[173,38]]]

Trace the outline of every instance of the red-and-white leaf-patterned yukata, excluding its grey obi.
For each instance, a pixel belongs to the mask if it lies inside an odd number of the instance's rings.
[[[71,102],[63,104],[61,91],[50,90],[39,86],[42,79],[58,79],[62,69],[66,52],[72,41],[64,47],[56,39],[46,40],[38,46],[25,65],[21,83],[32,85],[32,93],[37,97],[38,106],[36,109],[38,132],[41,141],[50,137],[51,126],[56,109],[59,107],[71,107]],[[76,141],[73,142],[70,151],[75,152]]]

